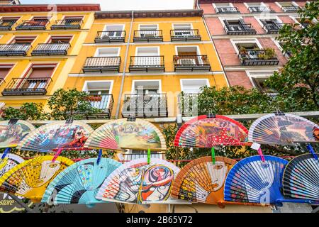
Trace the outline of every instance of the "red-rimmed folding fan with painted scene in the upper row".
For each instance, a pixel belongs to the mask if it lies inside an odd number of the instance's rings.
[[[184,123],[174,140],[177,147],[212,148],[216,145],[248,145],[248,130],[226,116],[198,116]]]

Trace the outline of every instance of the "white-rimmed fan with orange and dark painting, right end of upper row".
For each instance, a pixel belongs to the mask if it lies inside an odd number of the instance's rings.
[[[267,114],[252,123],[248,138],[254,143],[273,145],[319,143],[319,126],[301,116]]]

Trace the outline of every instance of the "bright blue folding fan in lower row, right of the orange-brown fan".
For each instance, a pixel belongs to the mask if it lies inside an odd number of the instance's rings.
[[[270,155],[246,157],[237,162],[225,181],[225,201],[281,204],[281,179],[288,161]]]

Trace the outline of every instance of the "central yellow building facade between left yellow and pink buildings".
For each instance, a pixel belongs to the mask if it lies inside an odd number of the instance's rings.
[[[96,12],[65,89],[89,92],[103,118],[177,116],[181,91],[228,86],[202,13]]]

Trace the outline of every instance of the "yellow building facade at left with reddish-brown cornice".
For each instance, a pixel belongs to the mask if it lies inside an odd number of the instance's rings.
[[[99,4],[0,7],[0,102],[46,104],[67,81]]]

